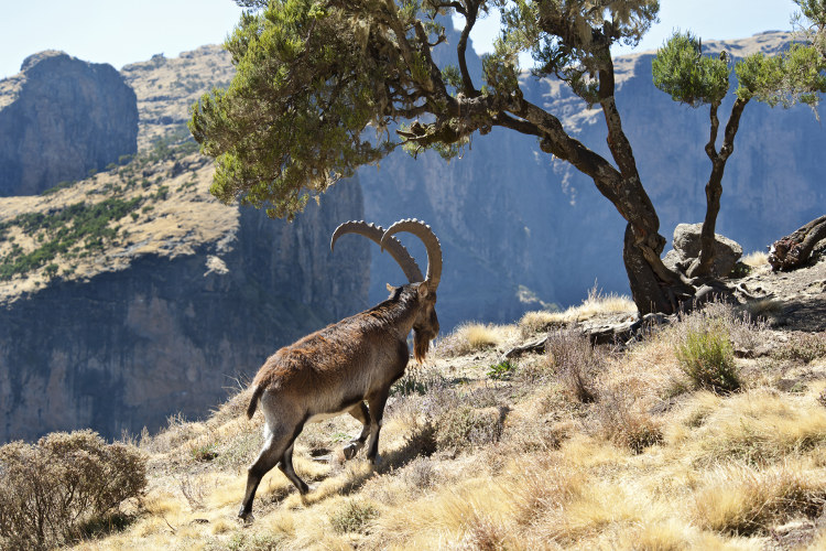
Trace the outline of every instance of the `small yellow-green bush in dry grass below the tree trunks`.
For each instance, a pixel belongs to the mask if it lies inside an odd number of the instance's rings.
[[[720,322],[692,327],[676,349],[680,367],[697,388],[731,392],[740,388],[731,338]]]

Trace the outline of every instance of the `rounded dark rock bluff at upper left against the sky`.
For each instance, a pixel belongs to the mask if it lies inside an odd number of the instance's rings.
[[[0,196],[86,177],[137,148],[135,95],[108,64],[29,56],[0,83]]]

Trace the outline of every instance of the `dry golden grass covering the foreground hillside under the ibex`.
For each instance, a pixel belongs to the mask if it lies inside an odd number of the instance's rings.
[[[582,348],[565,361],[583,364],[570,369],[587,374],[591,401],[570,399],[558,350],[556,359],[524,356],[511,377],[490,378],[490,358],[519,331],[457,331],[447,354],[438,347],[426,370],[395,387],[378,469],[361,456],[311,457],[335,455],[358,433],[355,421],[309,425],[295,466],[316,488],[302,499],[273,469],[247,527],[235,515],[260,418],[242,418],[246,397],[202,423],[175,418],[141,441],[150,489],[134,522],[78,548],[757,550],[783,538],[818,549],[826,372],[819,360],[801,364],[806,390],[782,392],[760,386],[784,372],[780,364],[767,358],[758,369],[736,358],[741,390],[692,391],[677,344],[711,322],[735,346],[767,341],[761,325],[713,306],[622,354]],[[454,355],[455,343],[468,355]],[[217,456],[206,460],[205,447]]]

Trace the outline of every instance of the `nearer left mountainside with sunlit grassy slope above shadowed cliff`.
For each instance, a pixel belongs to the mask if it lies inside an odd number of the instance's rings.
[[[363,217],[357,179],[293,224],[209,195],[214,168],[181,120],[214,56],[130,66],[142,147],[128,164],[0,199],[0,442],[202,417],[280,346],[367,306],[367,240],[329,252]]]

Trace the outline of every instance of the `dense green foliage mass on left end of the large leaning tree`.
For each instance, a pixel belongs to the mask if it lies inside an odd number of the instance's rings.
[[[189,122],[202,151],[216,158],[215,196],[292,217],[309,194],[392,150],[363,138],[369,123],[385,127],[384,82],[400,74],[398,60],[372,50],[389,40],[372,25],[311,0],[241,18],[225,44],[236,77],[202,97]],[[420,62],[406,78],[428,77]]]

